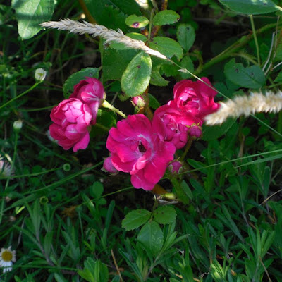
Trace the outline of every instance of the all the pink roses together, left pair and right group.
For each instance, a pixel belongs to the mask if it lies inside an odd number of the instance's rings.
[[[209,80],[182,80],[173,87],[174,99],[160,106],[150,121],[143,114],[130,115],[109,130],[106,148],[110,156],[104,169],[111,173],[130,173],[135,188],[152,190],[166,168],[177,172],[180,164],[173,161],[176,149],[188,142],[188,136],[200,137],[204,116],[219,109],[214,102],[216,91]],[[51,111],[50,135],[63,149],[85,149],[90,142],[90,128],[96,123],[97,111],[104,102],[104,87],[99,80],[87,78],[75,85],[69,99]],[[145,106],[142,97],[133,104]]]

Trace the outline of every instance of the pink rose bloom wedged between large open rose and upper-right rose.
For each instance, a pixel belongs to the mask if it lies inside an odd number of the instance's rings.
[[[200,137],[202,130],[200,118],[192,116],[187,111],[170,105],[160,106],[154,112],[153,124],[164,126],[165,141],[172,142],[176,149],[180,149],[187,143],[188,135]],[[197,129],[195,129],[197,128]]]

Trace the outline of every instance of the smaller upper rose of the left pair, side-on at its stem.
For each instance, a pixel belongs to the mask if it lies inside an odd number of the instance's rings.
[[[74,87],[73,94],[70,98],[77,98],[90,106],[92,112],[92,124],[96,123],[97,112],[104,100],[104,87],[96,78],[87,78],[81,80]]]

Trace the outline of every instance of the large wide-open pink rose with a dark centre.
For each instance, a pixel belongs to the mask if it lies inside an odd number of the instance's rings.
[[[106,148],[118,171],[130,173],[135,188],[152,190],[173,160],[176,147],[164,141],[164,127],[152,125],[143,114],[118,121],[109,131]]]

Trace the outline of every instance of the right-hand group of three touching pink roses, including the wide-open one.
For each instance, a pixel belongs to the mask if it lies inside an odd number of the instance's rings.
[[[200,137],[203,118],[219,109],[209,80],[182,80],[173,87],[174,99],[160,106],[152,121],[143,114],[128,116],[109,130],[104,161],[109,172],[130,173],[135,188],[152,190],[188,136]],[[174,168],[173,168],[174,169]]]

